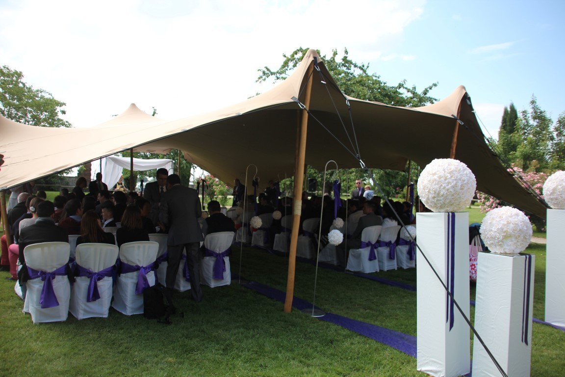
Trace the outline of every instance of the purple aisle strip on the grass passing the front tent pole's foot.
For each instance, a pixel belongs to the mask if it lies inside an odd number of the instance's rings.
[[[253,289],[256,292],[264,294],[267,297],[274,298],[277,301],[284,302],[286,293],[279,291],[279,289],[268,287],[256,281],[250,281],[245,284],[245,287]],[[298,310],[310,309],[312,304],[301,298],[294,297],[292,306]],[[315,307],[315,309],[319,309]],[[342,317],[341,315],[327,313],[324,317],[317,317],[318,319],[325,320],[326,322],[337,324],[338,326],[347,328],[364,335],[370,339],[376,340],[379,343],[386,344],[400,352],[406,353],[408,356],[416,357],[416,337],[407,335],[402,332],[389,330],[388,328],[376,326],[375,324],[365,323],[358,320]]]

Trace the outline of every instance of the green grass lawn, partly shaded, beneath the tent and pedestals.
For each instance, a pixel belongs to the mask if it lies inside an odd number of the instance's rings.
[[[232,271],[239,270],[234,247]],[[545,245],[536,254],[534,317],[544,318]],[[285,290],[288,259],[244,248],[242,275]],[[297,297],[312,301],[315,267],[297,263]],[[416,272],[375,274],[416,284]],[[21,313],[14,283],[0,272],[2,375],[41,376],[424,376],[416,359],[334,324],[311,318],[241,287],[203,287],[199,304],[190,292],[176,294],[171,325],[142,315],[34,325]],[[475,289],[471,287],[471,298]],[[416,335],[416,293],[318,270],[316,305],[325,311]],[[473,313],[473,309],[471,310]],[[532,376],[562,376],[565,332],[533,324]]]

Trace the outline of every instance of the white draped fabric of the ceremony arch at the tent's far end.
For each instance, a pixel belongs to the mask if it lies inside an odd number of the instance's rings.
[[[100,171],[100,163],[98,161],[92,162],[92,175],[96,176],[96,173]],[[129,157],[118,157],[109,156],[102,159],[102,181],[108,185],[108,189],[113,189],[120,179],[121,169],[130,168],[130,158]],[[152,159],[133,159],[133,170],[145,171],[153,170],[159,168],[166,168],[169,174],[173,172],[173,161],[166,158],[152,158]],[[126,183],[127,186],[127,183]]]

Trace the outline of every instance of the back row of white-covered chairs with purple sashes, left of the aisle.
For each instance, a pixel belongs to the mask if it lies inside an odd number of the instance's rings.
[[[142,292],[156,281],[164,283],[167,270],[167,235],[150,235],[150,239],[152,241],[123,244],[120,249],[109,244],[77,246],[72,289],[67,277],[71,256],[69,243],[43,242],[26,246],[24,255],[30,279],[26,283],[24,312],[31,314],[34,323],[66,320],[69,311],[77,319],[107,317],[110,305],[125,315],[143,313]],[[202,284],[210,287],[231,284],[226,250],[232,240],[233,232],[212,233],[206,237],[206,256],[201,263]],[[184,265],[181,263],[175,283],[179,291],[190,289]],[[116,266],[118,276],[114,285],[112,276]]]

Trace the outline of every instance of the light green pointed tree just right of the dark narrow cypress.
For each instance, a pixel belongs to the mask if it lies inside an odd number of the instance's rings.
[[[540,108],[535,96],[532,96],[529,105],[529,111],[520,111],[515,131],[512,133],[519,142],[515,155],[523,170],[529,170],[531,167],[544,170],[550,164],[551,143],[554,139],[553,120]]]

